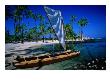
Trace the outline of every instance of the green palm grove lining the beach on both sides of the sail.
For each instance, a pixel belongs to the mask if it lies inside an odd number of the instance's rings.
[[[43,16],[41,13],[37,14],[28,8],[28,6],[16,5],[15,10],[11,11],[9,7],[5,8],[5,20],[13,20],[14,23],[14,35],[11,35],[10,32],[5,29],[5,42],[21,42],[24,41],[39,41],[42,40],[52,40],[57,39],[52,29],[50,23],[45,19],[47,17]],[[24,19],[32,19],[34,20],[34,26],[31,27],[30,23],[28,24],[24,21]],[[76,40],[81,38],[82,40],[82,28],[87,25],[87,19],[81,18],[78,21],[78,24],[81,27],[81,36],[74,32],[73,23],[76,23],[76,16],[70,16],[70,23],[64,24],[65,38],[66,40]],[[30,28],[29,28],[30,27]],[[7,27],[8,28],[8,27]],[[46,35],[49,35],[46,38]],[[54,36],[54,37],[53,37]]]

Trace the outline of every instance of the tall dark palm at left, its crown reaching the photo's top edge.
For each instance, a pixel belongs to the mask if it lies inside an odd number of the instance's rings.
[[[29,16],[29,9],[28,9],[28,6],[24,6],[24,5],[18,5],[16,6],[16,10],[14,12],[14,21],[17,22],[17,29],[20,30],[18,31],[19,33],[21,33],[21,42],[23,43],[24,42],[24,37],[23,37],[23,31],[24,31],[24,25],[21,25],[21,21],[23,22],[23,19],[24,18],[27,18]],[[25,25],[26,26],[26,25]],[[16,27],[16,26],[15,26]],[[16,35],[16,33],[15,33]]]

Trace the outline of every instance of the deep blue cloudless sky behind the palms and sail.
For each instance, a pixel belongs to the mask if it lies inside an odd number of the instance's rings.
[[[83,17],[88,19],[88,24],[83,28],[84,36],[91,38],[105,38],[106,37],[106,6],[105,5],[47,5],[54,10],[60,10],[62,13],[64,24],[70,23],[72,15],[76,16],[76,22],[73,23],[73,31],[79,34],[80,26],[77,21]],[[14,10],[14,6],[8,6],[10,10]],[[45,16],[45,20],[48,21],[44,7],[41,5],[28,6],[32,12],[36,14],[42,14]],[[25,23],[29,22],[29,27],[34,27],[35,23],[33,19],[25,19]],[[36,21],[38,24],[39,21]],[[12,19],[5,20],[6,30],[9,30],[10,34],[14,34],[14,22]]]

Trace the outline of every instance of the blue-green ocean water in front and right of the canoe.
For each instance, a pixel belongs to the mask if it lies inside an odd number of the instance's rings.
[[[72,45],[72,44],[70,44]],[[76,64],[86,63],[93,59],[106,58],[106,42],[74,44],[74,49],[80,51],[80,56],[62,62],[45,65],[39,70],[73,69]]]

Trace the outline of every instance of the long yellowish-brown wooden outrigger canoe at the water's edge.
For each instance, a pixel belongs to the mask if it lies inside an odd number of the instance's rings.
[[[79,51],[71,51],[67,50],[62,53],[56,53],[54,55],[44,55],[38,57],[26,57],[19,58],[14,61],[13,64],[16,68],[32,68],[32,67],[40,67],[43,65],[53,64],[56,62],[61,62],[73,57],[79,56]]]

